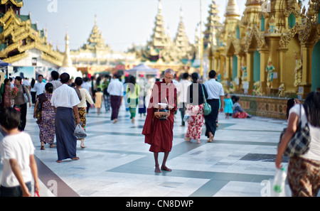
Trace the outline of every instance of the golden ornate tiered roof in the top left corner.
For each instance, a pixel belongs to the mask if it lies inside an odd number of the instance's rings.
[[[19,15],[23,1],[1,0],[0,4],[0,59],[14,63],[28,57],[28,50],[36,48],[41,58],[54,65],[62,65],[63,54],[53,50],[47,42],[47,33],[38,30],[28,16]]]

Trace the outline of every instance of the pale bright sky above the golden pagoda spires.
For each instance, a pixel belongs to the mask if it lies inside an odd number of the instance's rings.
[[[97,14],[97,26],[105,43],[112,50],[127,50],[135,45],[146,45],[153,33],[158,11],[158,0],[25,0],[21,15],[31,12],[31,22],[38,28],[47,28],[48,41],[61,51],[65,49],[68,25],[70,49],[76,50],[87,43]],[[202,20],[207,23],[212,0],[202,1]],[[246,0],[238,0],[239,11],[245,10]],[[220,22],[224,21],[228,1],[218,0]],[[176,36],[183,9],[183,23],[191,43],[195,40],[196,26],[200,22],[200,0],[161,0],[164,27],[171,38]],[[204,30],[204,27],[203,27]]]

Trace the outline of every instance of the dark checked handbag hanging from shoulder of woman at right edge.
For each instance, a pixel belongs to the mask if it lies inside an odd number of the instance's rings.
[[[287,144],[287,148],[284,151],[285,156],[294,157],[294,156],[300,156],[306,153],[310,148],[310,131],[309,126],[306,124],[305,126],[302,126],[301,121],[301,107],[300,104],[300,115],[297,125],[297,131],[294,133],[292,138],[290,139],[289,143]],[[283,129],[283,131],[280,134],[280,141],[278,144],[278,147],[282,141],[282,136],[285,134],[286,129]]]

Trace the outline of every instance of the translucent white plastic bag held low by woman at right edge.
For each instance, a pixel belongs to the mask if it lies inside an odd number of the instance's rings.
[[[287,173],[284,168],[277,169],[271,188],[272,197],[286,197],[286,178]]]

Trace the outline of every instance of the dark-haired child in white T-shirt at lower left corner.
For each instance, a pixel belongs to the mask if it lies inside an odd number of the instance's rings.
[[[4,163],[0,184],[1,197],[31,196],[33,177],[35,192],[40,190],[34,146],[29,134],[18,130],[20,112],[5,108],[0,122],[7,135],[0,141],[1,162]],[[32,173],[32,174],[31,174]]]

